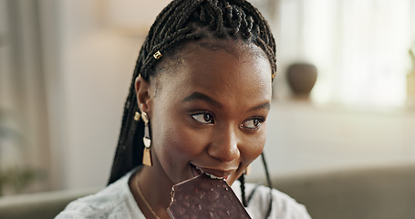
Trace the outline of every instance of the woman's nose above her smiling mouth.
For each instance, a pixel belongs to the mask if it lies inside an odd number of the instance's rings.
[[[214,132],[213,141],[208,148],[211,157],[223,162],[238,159],[240,151],[235,128],[218,129]]]

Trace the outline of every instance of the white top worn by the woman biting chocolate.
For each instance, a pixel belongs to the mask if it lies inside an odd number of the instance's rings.
[[[133,172],[127,173],[117,182],[110,184],[99,193],[88,195],[69,203],[65,210],[57,215],[56,219],[69,218],[110,218],[110,219],[145,219],[139,205],[130,191],[129,180]],[[253,191],[253,183],[245,183],[245,194]],[[241,199],[239,181],[232,185],[233,192]],[[294,199],[275,189],[272,191],[272,210],[270,217],[277,219],[311,219],[306,207],[296,203]],[[253,219],[264,219],[269,206],[269,188],[260,185],[249,202],[246,211]]]

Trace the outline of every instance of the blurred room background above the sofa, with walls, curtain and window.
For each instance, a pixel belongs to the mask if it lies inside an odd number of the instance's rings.
[[[0,195],[106,185],[141,43],[168,2],[0,0]],[[277,43],[273,176],[415,162],[415,1],[251,2]],[[316,67],[310,93],[288,83],[298,63]]]

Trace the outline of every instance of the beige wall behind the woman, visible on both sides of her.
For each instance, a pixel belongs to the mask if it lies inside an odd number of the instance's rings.
[[[58,4],[63,93],[59,122],[64,136],[56,162],[62,166],[64,188],[107,183],[124,100],[143,40],[137,34],[140,30],[122,25],[126,24],[123,18],[109,22],[105,3],[62,0]],[[320,172],[414,161],[413,111],[376,111],[289,99],[276,102],[265,148],[271,172]],[[262,166],[255,162],[252,177],[260,175]]]

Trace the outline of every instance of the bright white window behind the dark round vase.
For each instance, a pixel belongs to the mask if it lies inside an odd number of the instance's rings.
[[[401,107],[407,97],[409,49],[415,43],[410,0],[281,0],[280,68],[318,68],[316,102]]]

